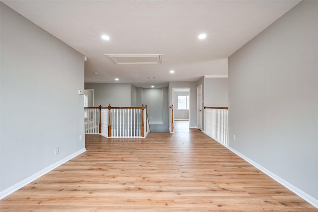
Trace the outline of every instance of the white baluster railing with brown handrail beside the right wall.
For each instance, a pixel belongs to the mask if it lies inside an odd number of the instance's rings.
[[[204,133],[229,146],[229,116],[227,107],[204,107]]]

